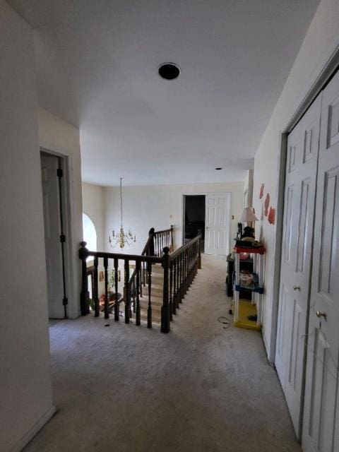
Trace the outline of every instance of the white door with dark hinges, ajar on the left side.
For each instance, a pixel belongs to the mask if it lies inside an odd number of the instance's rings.
[[[47,297],[50,319],[64,319],[64,275],[61,253],[59,159],[41,154],[42,199],[44,207],[44,244],[47,267]]]

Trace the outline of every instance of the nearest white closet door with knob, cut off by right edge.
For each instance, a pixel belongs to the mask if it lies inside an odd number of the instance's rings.
[[[307,338],[304,452],[339,451],[339,73],[323,90]]]

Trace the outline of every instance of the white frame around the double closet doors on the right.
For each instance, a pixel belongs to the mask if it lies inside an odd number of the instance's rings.
[[[275,228],[275,256],[273,264],[273,306],[272,306],[272,328],[270,332],[270,355],[268,360],[275,361],[276,336],[278,329],[278,300],[280,290],[280,263],[281,249],[283,241],[283,215],[284,215],[284,195],[285,195],[285,169],[287,158],[287,135],[295,127],[299,119],[307,111],[316,96],[323,90],[330,81],[331,76],[339,66],[339,36],[333,42],[332,47],[324,54],[323,61],[313,73],[313,78],[306,84],[306,88],[299,100],[295,103],[293,114],[280,131],[279,139],[279,162],[278,162],[278,197],[276,210]]]

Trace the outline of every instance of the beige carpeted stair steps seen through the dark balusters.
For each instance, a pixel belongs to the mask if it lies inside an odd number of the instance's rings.
[[[152,305],[152,323],[160,325],[161,307],[164,292],[164,269],[160,263],[152,266],[152,285],[150,292],[150,302]],[[140,297],[141,321],[147,322],[147,309],[149,297],[148,284],[143,287],[143,296]]]

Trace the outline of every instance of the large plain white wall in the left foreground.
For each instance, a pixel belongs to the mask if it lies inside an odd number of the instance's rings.
[[[32,30],[0,0],[0,448],[54,412]]]

